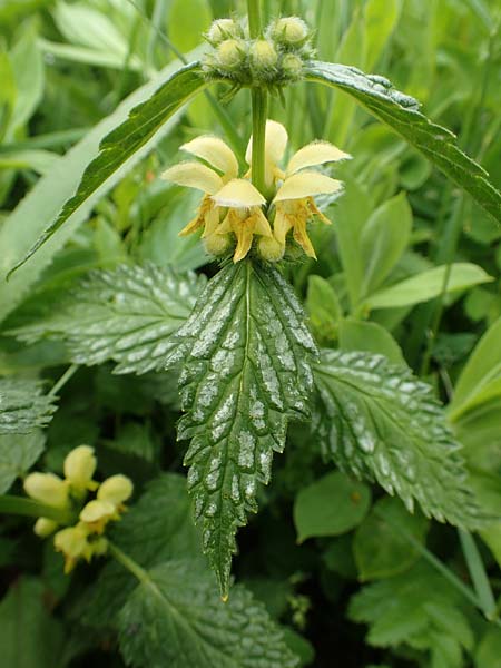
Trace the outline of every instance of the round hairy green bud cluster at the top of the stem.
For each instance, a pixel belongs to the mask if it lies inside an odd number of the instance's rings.
[[[272,21],[258,39],[250,39],[239,21],[218,19],[205,37],[212,46],[203,60],[205,75],[238,87],[273,89],[297,81],[303,63],[314,56],[312,32],[297,17]]]

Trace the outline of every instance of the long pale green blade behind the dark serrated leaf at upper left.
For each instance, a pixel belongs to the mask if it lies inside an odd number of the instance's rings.
[[[110,116],[101,120],[79,144],[57,161],[51,173],[36,184],[2,223],[0,226],[0,248],[2,249],[0,254],[0,322],[26,296],[42,269],[50,264],[57,250],[65,245],[88,216],[90,207],[98,197],[109,190],[146,153],[151,150],[156,143],[173,129],[178,119],[176,114],[163,126],[161,131],[157,132],[141,150],[107,179],[95,199],[89,198],[87,207],[80,207],[71,215],[68,225],[59,232],[57,237],[45,244],[37,254],[37,258],[32,258],[28,265],[16,272],[9,283],[4,281],[8,271],[28,253],[37,237],[52,223],[65,202],[75,193],[87,165],[98,155],[99,143],[102,138],[114,128],[124,124],[131,109],[148,100],[158,86],[169,80],[175,68],[176,65],[167,66],[153,81],[138,88],[126,98]]]

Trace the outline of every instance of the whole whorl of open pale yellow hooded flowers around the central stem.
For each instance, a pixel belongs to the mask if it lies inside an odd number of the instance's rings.
[[[313,141],[296,151],[285,170],[279,163],[287,145],[287,131],[274,120],[266,122],[265,193],[250,183],[250,169],[238,178],[238,161],[232,149],[218,137],[203,136],[181,146],[183,150],[204,163],[189,160],[167,169],[161,177],[179,186],[204,193],[197,216],[179,233],[181,236],[203,228],[208,253],[223,255],[236,247],[233,261],[243,259],[253,246],[271,262],[282,259],[288,233],[310,257],[316,257],[307,235],[307,224],[314,217],[330,220],[318,210],[316,195],[341,190],[342,184],[311,167],[350,158],[328,141]],[[246,161],[252,163],[252,137]],[[265,207],[265,212],[263,210]]]

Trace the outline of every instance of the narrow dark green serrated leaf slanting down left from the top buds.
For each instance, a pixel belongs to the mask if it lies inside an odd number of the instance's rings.
[[[37,239],[33,246],[9,274],[22,266],[50,237],[76,215],[89,200],[104,194],[109,179],[131,160],[151,148],[151,140],[163,126],[191,97],[206,87],[198,62],[177,70],[153,96],[131,109],[128,119],[107,135],[99,155],[88,165],[76,194],[65,204],[61,213]]]

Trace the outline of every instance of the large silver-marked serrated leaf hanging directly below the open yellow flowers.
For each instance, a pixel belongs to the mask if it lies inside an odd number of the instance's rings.
[[[236,530],[257,510],[257,483],[269,480],[288,418],[307,414],[316,346],[303,317],[276,268],[227,265],[200,295],[168,358],[169,366],[183,363],[178,436],[191,439],[188,488],[223,596]]]

